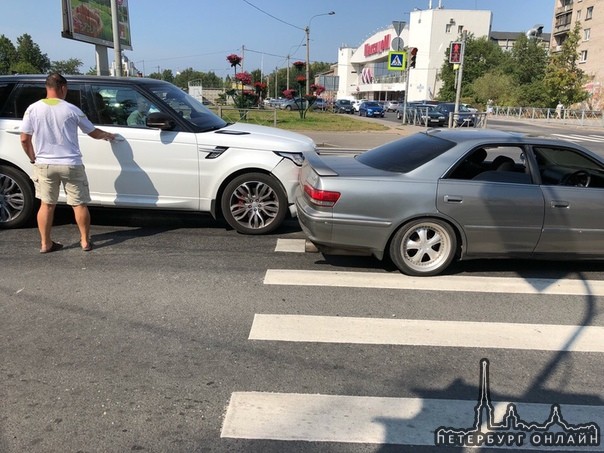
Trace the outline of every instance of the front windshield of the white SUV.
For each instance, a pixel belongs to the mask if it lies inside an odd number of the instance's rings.
[[[208,109],[193,96],[171,84],[158,84],[151,88],[153,94],[164,101],[178,116],[202,131],[221,129],[226,121]]]

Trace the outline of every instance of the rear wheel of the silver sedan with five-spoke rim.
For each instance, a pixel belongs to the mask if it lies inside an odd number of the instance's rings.
[[[453,228],[439,219],[418,219],[403,225],[390,244],[390,258],[407,275],[430,276],[444,271],[457,250]]]

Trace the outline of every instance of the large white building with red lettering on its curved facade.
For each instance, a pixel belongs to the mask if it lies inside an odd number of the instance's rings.
[[[440,89],[438,73],[450,43],[457,41],[463,31],[476,38],[488,37],[491,21],[491,11],[446,9],[440,4],[437,8],[412,11],[400,35],[405,47],[418,49],[416,66],[409,70],[407,100],[433,99]],[[396,36],[390,26],[357,49],[340,48],[337,97],[375,100],[405,97],[406,71],[388,70],[388,53],[393,50]]]

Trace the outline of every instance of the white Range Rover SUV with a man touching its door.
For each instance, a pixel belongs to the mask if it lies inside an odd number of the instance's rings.
[[[91,206],[174,209],[222,216],[245,234],[268,233],[288,215],[304,153],[314,142],[264,126],[228,124],[180,88],[159,80],[67,77],[67,101],[118,135],[80,133]],[[45,76],[0,77],[0,228],[35,211],[32,166],[19,142],[25,109],[45,97]],[[146,124],[127,118],[143,98]],[[60,202],[65,201],[61,194]]]

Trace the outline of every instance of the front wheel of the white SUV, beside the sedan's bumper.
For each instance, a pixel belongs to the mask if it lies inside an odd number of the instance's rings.
[[[264,173],[245,173],[222,192],[220,203],[227,223],[242,234],[267,234],[287,215],[287,195],[277,179]]]

